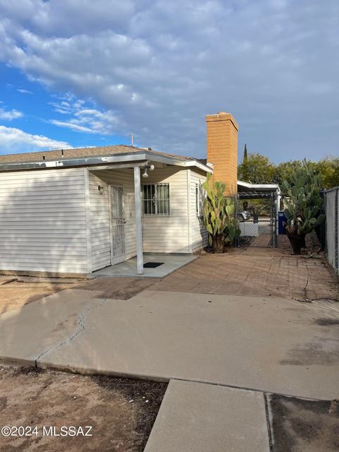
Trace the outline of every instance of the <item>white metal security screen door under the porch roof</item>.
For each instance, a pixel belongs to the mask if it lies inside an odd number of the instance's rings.
[[[125,261],[125,218],[123,197],[124,188],[122,186],[109,186],[112,265]]]

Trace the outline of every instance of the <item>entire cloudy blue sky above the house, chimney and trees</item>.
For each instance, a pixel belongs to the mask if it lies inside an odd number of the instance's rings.
[[[0,153],[130,143],[338,155],[337,0],[0,0]]]

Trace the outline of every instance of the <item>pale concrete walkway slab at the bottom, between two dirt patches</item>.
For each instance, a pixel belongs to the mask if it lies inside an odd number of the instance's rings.
[[[177,380],[169,382],[145,447],[145,452],[269,450],[262,393]]]

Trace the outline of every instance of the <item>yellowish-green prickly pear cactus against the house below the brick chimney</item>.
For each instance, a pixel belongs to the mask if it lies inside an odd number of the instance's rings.
[[[211,182],[208,174],[203,189],[206,198],[203,203],[203,223],[208,231],[208,243],[215,253],[222,253],[224,244],[239,237],[238,222],[234,218],[235,204],[232,198],[224,196],[226,185]]]

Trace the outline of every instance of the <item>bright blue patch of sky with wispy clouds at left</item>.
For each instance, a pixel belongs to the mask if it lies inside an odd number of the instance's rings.
[[[130,142],[130,138],[129,141],[126,141],[128,138],[126,136],[105,131],[104,126],[107,123],[105,120],[102,120],[100,131],[97,133],[93,127],[88,127],[88,121],[82,121],[82,125],[69,124],[66,126],[65,121],[68,121],[78,111],[90,109],[91,118],[93,118],[93,114],[100,112],[105,114],[105,111],[100,110],[93,100],[88,99],[86,102],[81,102],[81,109],[76,109],[73,105],[78,102],[78,99],[71,93],[58,93],[50,90],[42,83],[30,80],[22,71],[6,66],[6,64],[0,64],[0,81],[2,86],[0,126],[19,129],[28,135],[47,138],[45,143],[38,144],[29,136],[27,140],[21,138],[19,143],[16,140],[13,140],[12,143],[6,141],[7,146],[4,150],[0,150],[1,153]]]

